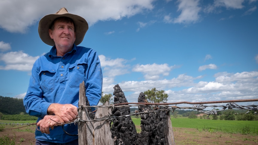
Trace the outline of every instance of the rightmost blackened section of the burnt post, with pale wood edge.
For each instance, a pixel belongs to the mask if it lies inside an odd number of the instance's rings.
[[[140,93],[138,103],[146,103],[145,94]],[[166,107],[157,107],[157,109],[168,109]],[[148,112],[151,106],[139,106],[139,112]],[[158,111],[141,114],[141,128],[137,142],[142,145],[174,145],[174,136],[169,111]]]

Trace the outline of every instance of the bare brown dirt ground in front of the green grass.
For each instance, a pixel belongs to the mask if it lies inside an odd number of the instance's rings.
[[[34,145],[35,126],[26,129],[3,130],[0,132],[0,138],[9,135],[16,140],[16,145]],[[223,132],[208,132],[189,128],[173,128],[174,140],[177,145],[254,145],[258,144],[258,136],[228,134]]]

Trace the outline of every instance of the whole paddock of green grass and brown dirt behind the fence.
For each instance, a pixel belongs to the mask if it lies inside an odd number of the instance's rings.
[[[141,132],[141,119],[131,117],[136,131]],[[171,117],[174,132],[174,140],[177,145],[253,145],[258,143],[258,121],[237,120],[207,120],[189,119],[187,117]],[[35,144],[34,126],[19,129],[3,130],[3,128],[16,128],[21,125],[17,123],[35,123],[32,121],[0,120],[0,144],[2,145],[33,145]],[[12,125],[14,123],[14,125]],[[15,124],[16,123],[16,124]],[[23,125],[24,126],[24,125]],[[2,130],[1,130],[2,128]]]

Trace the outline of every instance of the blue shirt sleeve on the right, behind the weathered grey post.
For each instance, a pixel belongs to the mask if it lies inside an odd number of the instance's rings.
[[[90,106],[98,105],[102,94],[103,76],[101,71],[100,60],[96,51],[88,57],[88,71],[86,72],[86,96]]]

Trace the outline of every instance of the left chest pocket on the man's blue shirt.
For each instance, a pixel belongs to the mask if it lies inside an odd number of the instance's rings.
[[[44,93],[54,90],[56,70],[41,70],[39,73],[40,87]]]

